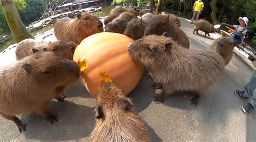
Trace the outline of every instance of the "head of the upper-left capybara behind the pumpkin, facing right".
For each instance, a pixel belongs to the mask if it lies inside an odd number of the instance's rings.
[[[78,19],[78,29],[80,31],[76,31],[76,32],[82,32],[84,31],[82,34],[84,35],[83,38],[86,38],[88,36],[91,36],[92,34],[95,33],[99,33],[99,32],[103,32],[103,23],[95,16],[92,16],[90,13],[78,13],[77,15],[77,19]]]

